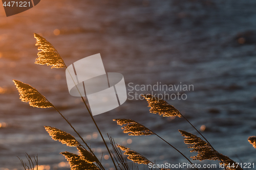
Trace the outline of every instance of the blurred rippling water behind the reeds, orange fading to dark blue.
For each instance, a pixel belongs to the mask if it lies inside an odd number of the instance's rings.
[[[185,92],[186,100],[167,102],[217,151],[236,162],[254,163],[256,150],[247,138],[256,135],[255,7],[253,0],[44,0],[10,17],[0,7],[0,170],[23,169],[17,156],[26,161],[26,153],[38,155],[40,170],[69,169],[59,153],[77,153],[44,129],[52,126],[77,137],[65,120],[52,108],[21,102],[12,79],[45,95],[96,156],[102,155],[103,165],[113,169],[86,107],[68,92],[65,69],[34,64],[38,51],[33,33],[51,42],[66,65],[100,53],[106,72],[121,73],[127,89],[129,83],[194,85],[194,91]],[[149,109],[145,100],[127,100],[94,117],[105,138],[108,133],[157,164],[186,160],[156,136],[123,134],[113,118],[134,119],[187,157],[196,155],[189,153],[178,132],[198,135],[184,119]]]

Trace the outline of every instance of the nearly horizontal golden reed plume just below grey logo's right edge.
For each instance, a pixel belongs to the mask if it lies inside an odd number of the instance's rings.
[[[113,121],[117,122],[117,125],[125,125],[126,126],[122,127],[123,129],[123,133],[129,133],[129,135],[132,136],[141,136],[141,135],[153,135],[155,134],[154,132],[152,132],[151,130],[147,129],[145,126],[135,122],[134,120],[131,119],[113,119]]]

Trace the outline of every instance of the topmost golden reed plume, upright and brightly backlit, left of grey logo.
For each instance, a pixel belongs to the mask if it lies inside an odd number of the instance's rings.
[[[52,65],[52,68],[66,67],[57,50],[50,42],[36,33],[34,33],[34,37],[36,38],[35,45],[38,46],[38,50],[41,50],[37,53],[38,58],[35,64]]]

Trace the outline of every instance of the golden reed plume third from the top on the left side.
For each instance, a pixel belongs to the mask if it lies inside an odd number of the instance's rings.
[[[68,147],[77,147],[80,143],[71,134],[61,131],[57,128],[45,126],[46,131],[53,140],[58,140],[62,144],[67,144]]]

